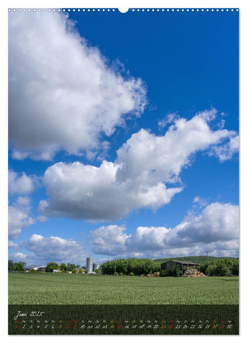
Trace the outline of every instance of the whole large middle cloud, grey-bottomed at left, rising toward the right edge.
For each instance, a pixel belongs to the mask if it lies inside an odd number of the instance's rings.
[[[183,190],[180,173],[198,151],[225,144],[235,131],[216,130],[208,122],[215,109],[198,113],[191,120],[179,118],[165,135],[141,129],[117,151],[115,162],[100,167],[56,163],[43,177],[47,200],[40,201],[45,216],[118,220],[143,207],[157,210]]]

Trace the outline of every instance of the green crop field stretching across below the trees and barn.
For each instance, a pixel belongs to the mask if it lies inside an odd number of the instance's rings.
[[[9,274],[9,304],[238,304],[239,278]]]

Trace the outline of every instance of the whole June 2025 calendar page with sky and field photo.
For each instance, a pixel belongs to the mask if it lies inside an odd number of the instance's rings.
[[[8,9],[9,335],[239,334],[239,9]]]

